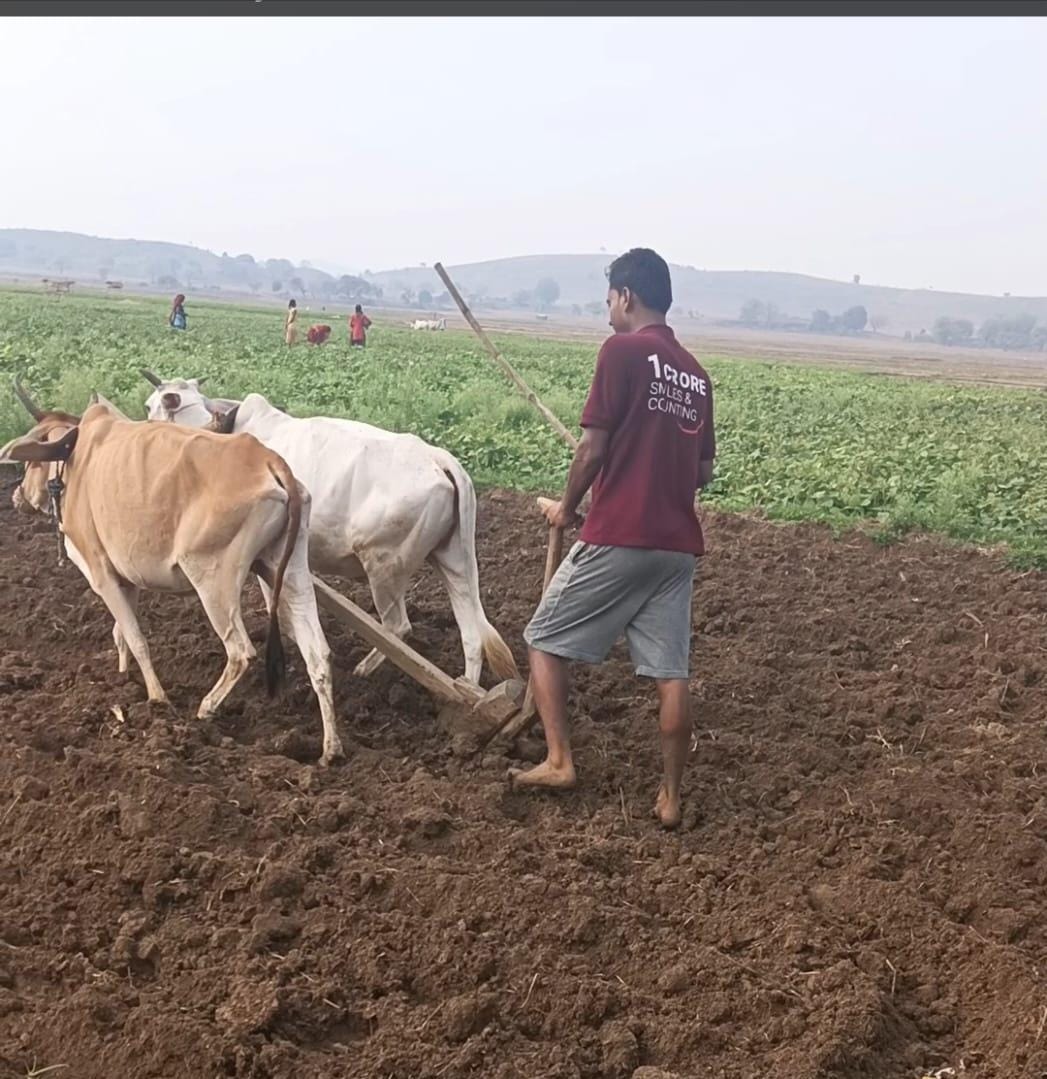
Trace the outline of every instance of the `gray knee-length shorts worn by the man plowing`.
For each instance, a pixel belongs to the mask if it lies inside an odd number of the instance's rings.
[[[694,555],[576,543],[524,640],[539,652],[602,663],[625,633],[637,674],[688,678]]]

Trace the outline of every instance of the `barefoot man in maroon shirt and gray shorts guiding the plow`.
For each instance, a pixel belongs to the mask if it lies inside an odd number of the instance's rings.
[[[567,660],[601,663],[624,633],[637,674],[655,680],[665,776],[655,816],[680,822],[691,739],[691,589],[705,552],[695,510],[712,479],[712,384],[666,325],[672,285],[665,260],[635,248],[608,270],[614,336],[600,349],[582,411],[582,440],[550,525],[580,522],[575,543],[525,631],[546,757],[511,771],[516,788],[573,787]]]

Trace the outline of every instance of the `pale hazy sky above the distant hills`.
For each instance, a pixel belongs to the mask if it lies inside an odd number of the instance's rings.
[[[0,227],[1047,295],[1047,22],[5,18]]]

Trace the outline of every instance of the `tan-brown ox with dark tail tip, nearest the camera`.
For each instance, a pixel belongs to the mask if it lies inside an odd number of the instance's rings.
[[[149,699],[167,699],[138,625],[138,596],[142,589],[195,591],[226,647],[226,668],[198,711],[214,714],[256,654],[241,610],[254,571],[271,586],[267,688],[275,694],[284,678],[283,620],[319,701],[322,762],[340,756],[330,651],[307,554],[310,496],[287,463],[250,437],[134,423],[103,398],[93,398],[78,423],[38,409],[21,387],[19,397],[37,423],[0,450],[0,462],[26,463],[23,498],[33,506],[41,503],[41,479],[46,491],[44,469],[64,470],[66,552],[114,619],[120,670],[127,670],[130,651]]]

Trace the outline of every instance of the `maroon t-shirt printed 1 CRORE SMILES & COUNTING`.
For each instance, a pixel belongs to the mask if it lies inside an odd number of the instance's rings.
[[[668,326],[608,338],[583,427],[610,433],[583,543],[704,555],[698,462],[716,456],[712,383]]]

